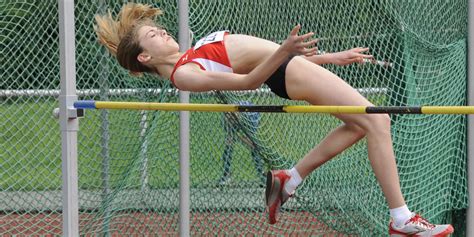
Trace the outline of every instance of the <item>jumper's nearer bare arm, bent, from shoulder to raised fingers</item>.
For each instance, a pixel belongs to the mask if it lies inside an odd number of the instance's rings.
[[[201,70],[197,65],[188,63],[179,67],[174,74],[174,83],[182,90],[209,91],[209,90],[249,90],[262,85],[290,55],[304,55],[307,57],[316,54],[316,40],[308,40],[313,32],[299,36],[301,26],[291,30],[288,39],[263,63],[255,67],[248,74],[225,72],[211,72]]]

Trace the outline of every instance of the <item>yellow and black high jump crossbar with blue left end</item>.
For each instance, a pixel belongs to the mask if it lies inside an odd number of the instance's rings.
[[[330,114],[474,114],[474,106],[319,106],[319,105],[234,105],[79,100],[76,109],[126,109],[201,112],[268,112]]]

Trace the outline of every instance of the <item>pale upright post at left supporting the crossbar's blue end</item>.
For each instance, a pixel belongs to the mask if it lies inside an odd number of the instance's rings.
[[[74,0],[59,0],[59,46],[63,236],[79,236],[79,198],[77,177],[77,130],[79,121],[73,103],[76,95]]]

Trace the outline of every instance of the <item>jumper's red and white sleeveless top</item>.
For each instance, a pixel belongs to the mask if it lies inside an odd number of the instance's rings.
[[[224,45],[224,36],[228,34],[227,31],[219,31],[200,39],[193,48],[186,51],[178,60],[171,73],[171,82],[174,84],[173,76],[176,69],[186,63],[195,63],[202,70],[207,71],[232,72]]]

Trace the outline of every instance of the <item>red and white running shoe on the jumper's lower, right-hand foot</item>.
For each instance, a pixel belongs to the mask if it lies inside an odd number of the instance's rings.
[[[388,227],[388,233],[391,237],[444,237],[449,236],[453,232],[454,228],[451,225],[434,225],[415,213],[413,213],[413,216],[410,218],[410,220],[408,220],[402,227],[396,227],[392,221],[390,221]]]

